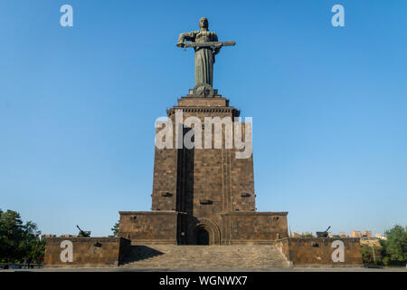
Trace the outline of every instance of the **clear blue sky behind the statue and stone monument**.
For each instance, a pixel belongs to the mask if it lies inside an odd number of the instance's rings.
[[[289,211],[299,232],[406,225],[402,0],[1,0],[0,208],[95,236],[118,210],[150,210],[154,122],[194,87],[175,42],[202,16],[237,42],[214,87],[253,118],[258,210]]]

